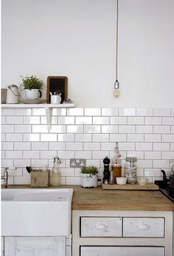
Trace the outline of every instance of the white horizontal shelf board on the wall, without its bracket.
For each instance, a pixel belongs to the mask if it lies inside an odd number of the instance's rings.
[[[35,107],[40,107],[40,108],[45,108],[45,107],[75,107],[74,103],[66,103],[66,104],[1,104],[1,108],[5,108],[5,107],[31,107],[31,108],[35,108]]]

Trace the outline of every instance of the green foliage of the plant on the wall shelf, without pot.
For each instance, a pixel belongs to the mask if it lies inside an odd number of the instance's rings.
[[[26,76],[26,77],[23,77],[21,75],[20,77],[21,77],[21,80],[22,80],[21,87],[24,87],[24,89],[28,89],[28,90],[38,89],[38,90],[41,90],[43,85],[44,85],[44,81],[37,78],[35,75]]]

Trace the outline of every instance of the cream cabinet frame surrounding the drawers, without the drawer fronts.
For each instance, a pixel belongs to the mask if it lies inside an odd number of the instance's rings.
[[[164,238],[81,238],[81,217],[164,218]],[[173,256],[173,212],[73,210],[72,256],[80,256],[80,246],[164,246],[165,256]]]

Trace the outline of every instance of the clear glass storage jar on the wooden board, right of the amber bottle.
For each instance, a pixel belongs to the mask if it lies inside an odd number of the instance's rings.
[[[136,183],[136,161],[137,158],[128,156],[125,158],[125,177],[127,177],[127,183],[135,184]]]

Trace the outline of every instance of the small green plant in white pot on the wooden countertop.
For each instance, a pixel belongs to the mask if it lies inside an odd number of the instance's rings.
[[[97,187],[97,173],[98,169],[96,166],[86,166],[80,171],[82,173],[81,186],[83,187]]]

